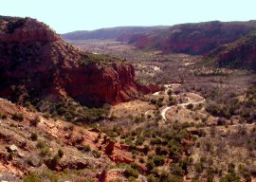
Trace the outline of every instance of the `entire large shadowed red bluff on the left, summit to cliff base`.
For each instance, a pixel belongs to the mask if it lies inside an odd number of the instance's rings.
[[[0,17],[0,96],[9,100],[72,98],[89,106],[137,93],[131,64],[84,53],[31,18]]]

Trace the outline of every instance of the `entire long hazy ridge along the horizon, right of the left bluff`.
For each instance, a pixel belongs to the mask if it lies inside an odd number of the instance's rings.
[[[200,55],[219,45],[236,41],[256,29],[256,21],[205,22],[173,27],[113,27],[94,31],[75,31],[62,35],[65,40],[115,39],[142,49],[163,53]]]

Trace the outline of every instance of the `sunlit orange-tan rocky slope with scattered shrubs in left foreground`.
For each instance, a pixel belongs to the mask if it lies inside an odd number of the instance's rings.
[[[2,181],[125,180],[123,169],[110,166],[134,161],[99,130],[46,118],[9,100],[0,99],[0,126]]]

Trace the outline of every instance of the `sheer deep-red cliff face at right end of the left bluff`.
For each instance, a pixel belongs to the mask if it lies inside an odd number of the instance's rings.
[[[129,64],[90,64],[63,71],[68,75],[63,84],[66,93],[85,104],[115,104],[130,100],[137,92],[134,68]]]

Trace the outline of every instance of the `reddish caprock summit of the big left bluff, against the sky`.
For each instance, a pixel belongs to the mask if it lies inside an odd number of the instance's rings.
[[[0,17],[0,42],[55,42],[61,40],[51,28],[32,18]]]

